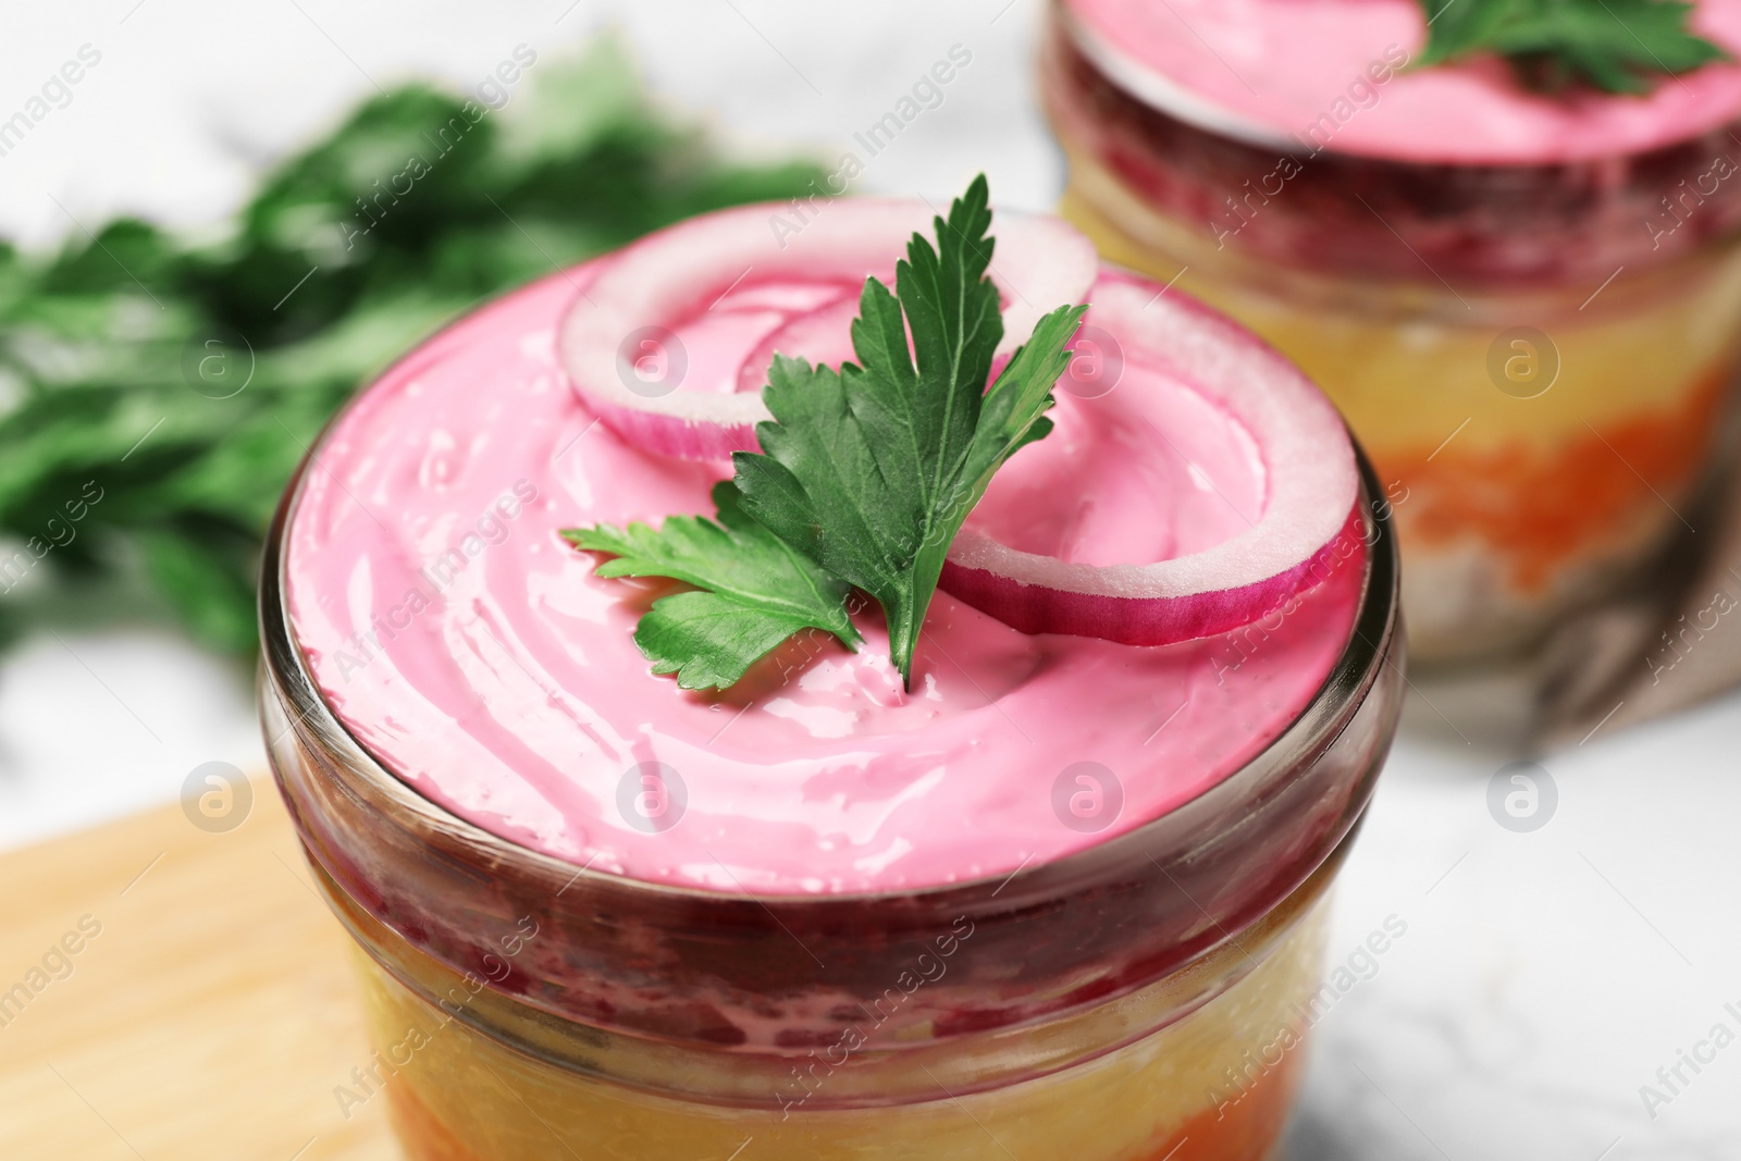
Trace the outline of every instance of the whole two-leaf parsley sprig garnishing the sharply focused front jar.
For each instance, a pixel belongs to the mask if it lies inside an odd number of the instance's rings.
[[[1052,430],[1052,385],[1085,306],[1060,306],[991,378],[1003,338],[991,209],[980,176],[914,233],[895,289],[865,279],[853,320],[858,362],[813,367],[775,355],[757,425],[763,453],[736,453],[714,493],[719,524],[669,517],[569,529],[580,548],[618,554],[602,576],[670,576],[700,592],[662,597],[635,627],[655,672],[686,689],[729,686],[790,632],[858,644],[850,587],[876,597],[905,684],[944,555],[992,473]],[[912,336],[909,350],[907,336]],[[703,545],[698,533],[707,538]],[[696,550],[712,554],[696,560]]]

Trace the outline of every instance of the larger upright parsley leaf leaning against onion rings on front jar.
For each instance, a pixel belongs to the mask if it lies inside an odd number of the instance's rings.
[[[1041,319],[987,392],[1003,338],[989,228],[980,176],[935,219],[935,249],[918,233],[907,244],[895,292],[865,280],[860,364],[776,357],[763,392],[773,419],[756,428],[764,454],[733,456],[745,512],[877,599],[907,684],[944,555],[992,472],[1052,430],[1043,413],[1086,310]]]

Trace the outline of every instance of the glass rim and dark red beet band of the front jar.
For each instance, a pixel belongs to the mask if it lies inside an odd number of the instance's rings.
[[[756,895],[578,867],[418,794],[345,728],[313,681],[286,602],[287,538],[310,465],[345,414],[292,477],[263,554],[261,701],[280,790],[310,858],[387,928],[458,971],[481,970],[496,956],[496,936],[522,916],[554,929],[562,956],[510,964],[500,982],[491,975],[498,990],[552,1015],[679,1041],[745,1043],[757,1036],[745,1023],[766,1023],[745,1013],[776,994],[792,997],[789,1015],[815,1030],[829,1023],[830,996],[881,987],[914,947],[961,924],[980,947],[1018,957],[1031,987],[966,1015],[956,989],[931,989],[914,1020],[931,1013],[923,1018],[935,1036],[1130,992],[1233,940],[1304,882],[1360,818],[1395,733],[1395,533],[1356,446],[1365,583],[1342,653],[1274,742],[1165,815],[1012,874],[900,891]],[[1381,696],[1368,696],[1381,686]],[[1363,726],[1349,750],[1342,738],[1356,717]],[[822,964],[825,983],[815,978]],[[641,997],[609,982],[649,978],[670,1003],[629,1013]],[[985,983],[989,975],[973,978]],[[937,1023],[944,1010],[959,1027]]]

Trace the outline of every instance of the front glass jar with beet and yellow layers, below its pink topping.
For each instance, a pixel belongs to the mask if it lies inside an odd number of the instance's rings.
[[[1402,701],[1388,505],[1361,470],[1353,635],[1252,762],[996,881],[822,896],[592,872],[381,768],[286,613],[298,475],[263,567],[261,714],[359,949],[374,1055],[341,1104],[381,1097],[416,1161],[1266,1156]]]

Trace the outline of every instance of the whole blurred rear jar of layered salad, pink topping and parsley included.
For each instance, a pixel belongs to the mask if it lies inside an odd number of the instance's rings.
[[[1064,212],[1341,406],[1412,656],[1520,653],[1727,460],[1741,2],[1057,0]]]

